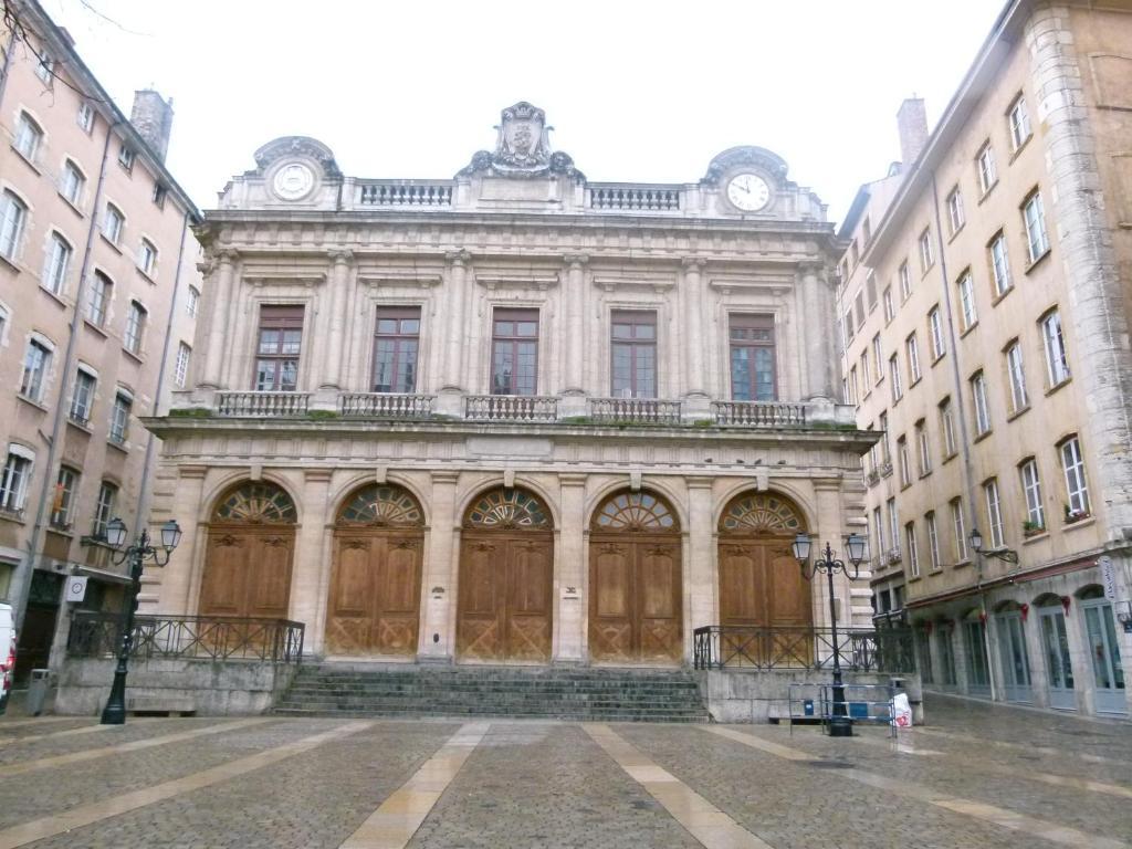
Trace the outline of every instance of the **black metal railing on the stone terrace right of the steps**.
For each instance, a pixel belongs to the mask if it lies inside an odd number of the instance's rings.
[[[838,628],[841,667],[863,672],[912,672],[911,628]],[[830,669],[830,628],[705,625],[693,632],[696,669]]]

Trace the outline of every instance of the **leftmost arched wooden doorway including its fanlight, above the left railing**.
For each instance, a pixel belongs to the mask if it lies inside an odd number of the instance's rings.
[[[200,583],[201,616],[286,618],[297,518],[291,497],[266,481],[240,483],[216,501]]]

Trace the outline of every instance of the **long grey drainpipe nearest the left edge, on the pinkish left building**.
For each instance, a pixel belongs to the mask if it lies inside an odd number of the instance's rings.
[[[86,289],[91,276],[91,255],[94,252],[94,240],[98,230],[98,209],[102,207],[102,190],[106,181],[106,163],[110,160],[110,140],[114,136],[114,128],[121,121],[114,121],[106,128],[106,144],[102,147],[102,165],[98,168],[98,185],[94,192],[94,204],[91,212],[91,226],[86,232],[86,248],[83,251],[83,268],[79,272],[78,291],[75,293],[75,307],[71,311],[70,333],[67,336],[67,352],[63,354],[63,365],[59,379],[59,401],[55,403],[55,412],[51,422],[51,438],[48,440],[48,461],[44,464],[43,489],[40,491],[40,503],[35,508],[35,523],[32,525],[32,534],[27,540],[27,557],[20,561],[16,571],[16,597],[12,600],[12,615],[16,619],[16,631],[24,624],[24,614],[27,608],[27,597],[32,589],[32,575],[35,574],[36,552],[40,550],[41,540],[45,532],[45,516],[48,512],[48,499],[54,492],[54,480],[59,474],[57,464],[59,462],[59,443],[62,439],[63,426],[67,419],[67,398],[70,397],[70,376],[75,371],[76,349],[78,334],[83,319],[80,310],[86,302]]]

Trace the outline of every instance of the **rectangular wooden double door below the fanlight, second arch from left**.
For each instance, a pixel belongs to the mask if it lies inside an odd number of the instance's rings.
[[[419,531],[335,532],[326,604],[327,653],[415,655],[422,550]]]

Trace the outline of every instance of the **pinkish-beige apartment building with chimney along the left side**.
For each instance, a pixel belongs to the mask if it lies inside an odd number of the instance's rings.
[[[200,274],[198,213],[164,166],[171,104],[138,92],[128,119],[38,3],[6,7],[0,599],[23,675],[66,633],[66,575],[89,578],[78,607],[118,607],[103,531],[146,521],[156,443],[138,417],[186,385]]]

